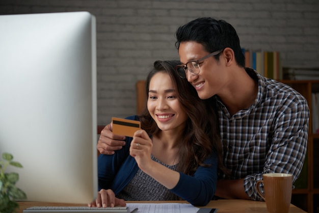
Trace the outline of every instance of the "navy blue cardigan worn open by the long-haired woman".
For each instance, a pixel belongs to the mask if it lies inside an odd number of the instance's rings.
[[[138,116],[126,119],[139,120]],[[113,155],[98,156],[98,188],[112,189],[117,195],[135,176],[139,167],[134,157],[129,155],[131,137],[126,137],[126,145]],[[182,162],[179,162],[180,164]],[[193,176],[180,173],[177,185],[170,191],[193,205],[206,205],[214,196],[217,182],[217,157],[215,153],[204,161],[210,167],[199,166]]]

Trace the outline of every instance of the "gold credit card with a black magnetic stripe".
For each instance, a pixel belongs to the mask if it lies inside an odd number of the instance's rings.
[[[134,132],[141,129],[141,122],[123,118],[112,118],[113,134],[133,137]]]

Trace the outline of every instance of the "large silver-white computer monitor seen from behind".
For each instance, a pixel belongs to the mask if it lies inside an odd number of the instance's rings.
[[[88,12],[0,16],[0,153],[27,201],[97,194],[96,27]]]

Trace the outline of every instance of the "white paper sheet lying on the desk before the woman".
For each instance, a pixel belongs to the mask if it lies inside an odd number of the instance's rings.
[[[196,213],[199,208],[188,203],[126,203],[128,212],[139,208],[134,213]]]

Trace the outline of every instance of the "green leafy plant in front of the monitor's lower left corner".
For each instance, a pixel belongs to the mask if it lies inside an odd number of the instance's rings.
[[[3,153],[0,161],[0,212],[11,213],[16,212],[19,207],[16,199],[25,199],[25,193],[15,186],[19,179],[19,174],[16,172],[5,173],[8,166],[22,168],[22,165],[13,161],[13,155]]]

